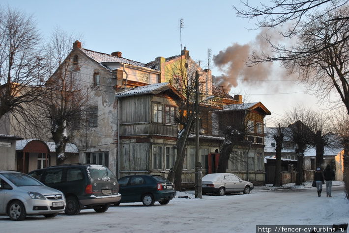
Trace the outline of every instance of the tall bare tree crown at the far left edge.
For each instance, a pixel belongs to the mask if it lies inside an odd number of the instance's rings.
[[[47,63],[32,17],[0,8],[0,118],[27,116],[44,90]]]

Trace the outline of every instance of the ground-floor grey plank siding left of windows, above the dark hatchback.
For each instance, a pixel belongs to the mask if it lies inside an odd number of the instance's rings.
[[[120,145],[120,172],[147,171],[149,143],[122,143]]]

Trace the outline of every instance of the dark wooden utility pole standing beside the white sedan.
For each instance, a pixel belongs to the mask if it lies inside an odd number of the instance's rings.
[[[203,189],[202,189],[202,178],[203,173],[201,172],[201,163],[199,162],[199,131],[200,131],[200,122],[199,122],[199,72],[195,72],[195,197],[203,198]]]

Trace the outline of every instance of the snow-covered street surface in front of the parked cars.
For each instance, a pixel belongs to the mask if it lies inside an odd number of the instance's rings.
[[[177,196],[192,197],[193,191]],[[324,193],[324,195],[323,195]],[[87,233],[87,232],[256,232],[256,225],[332,225],[349,222],[344,186],[332,187],[332,198],[325,186],[318,197],[315,188],[265,190],[256,187],[249,195],[203,199],[174,198],[168,205],[155,203],[121,204],[105,213],[93,209],[79,215],[59,214],[54,219],[29,216],[21,222],[0,216],[1,233]]]

